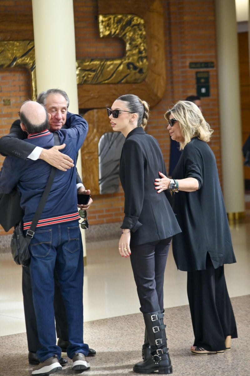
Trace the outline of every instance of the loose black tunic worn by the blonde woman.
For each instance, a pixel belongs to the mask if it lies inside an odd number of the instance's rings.
[[[182,233],[173,238],[179,270],[206,269],[209,253],[214,268],[236,262],[214,153],[194,137],[186,144],[173,171],[173,179],[194,177],[199,189],[174,195],[174,212]]]

